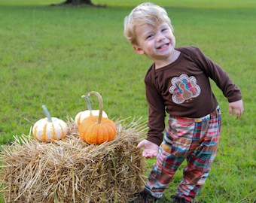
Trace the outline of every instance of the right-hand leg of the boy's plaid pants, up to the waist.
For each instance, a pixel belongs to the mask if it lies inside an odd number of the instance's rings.
[[[221,131],[221,114],[210,114],[209,120],[203,120],[199,146],[187,156],[183,179],[178,186],[177,195],[192,201],[202,189],[215,159]],[[200,123],[196,124],[197,126]],[[196,128],[197,129],[197,128]]]

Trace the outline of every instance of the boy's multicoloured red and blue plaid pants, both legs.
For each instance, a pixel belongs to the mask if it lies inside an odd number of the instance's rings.
[[[193,201],[206,182],[215,159],[221,132],[221,111],[218,107],[198,119],[169,117],[168,124],[145,189],[160,198],[175,171],[187,159],[176,195]]]

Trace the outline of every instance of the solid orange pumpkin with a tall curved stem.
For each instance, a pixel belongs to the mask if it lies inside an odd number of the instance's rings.
[[[90,95],[97,95],[99,98],[99,116],[87,117],[78,127],[81,138],[89,144],[102,144],[105,141],[112,141],[117,133],[115,123],[102,117],[103,101],[99,92],[90,92]]]

